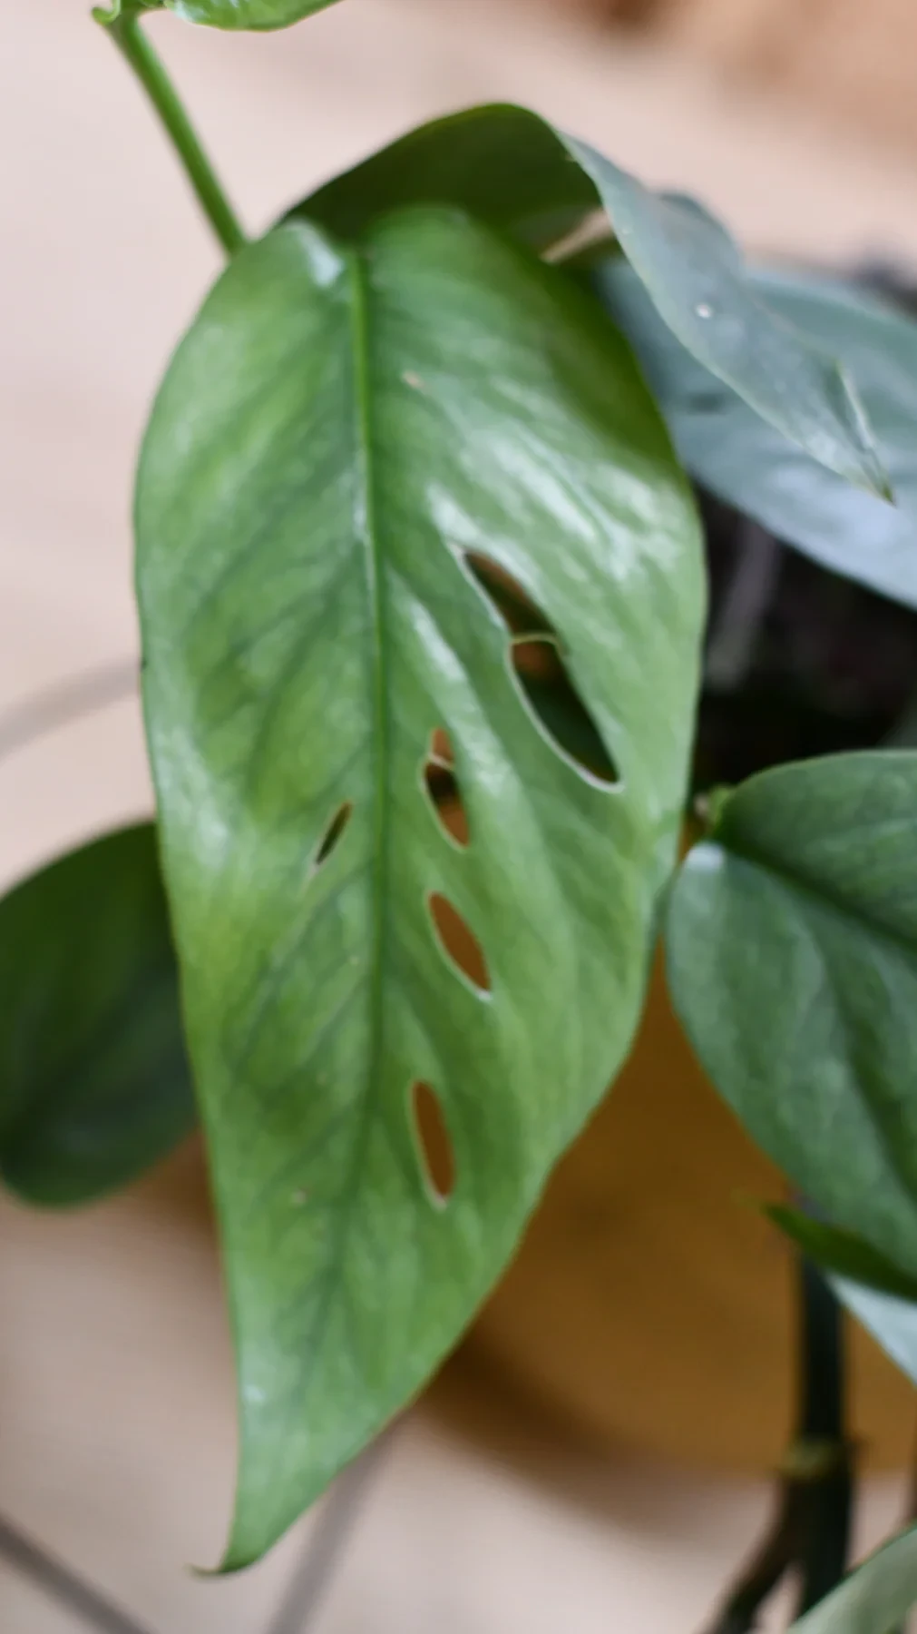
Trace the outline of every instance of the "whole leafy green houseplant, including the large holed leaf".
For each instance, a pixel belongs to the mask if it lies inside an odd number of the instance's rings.
[[[689,474],[915,608],[915,325],[746,268],[698,203],[512,106],[413,131],[248,240],[158,8],[96,18],[228,265],[137,475],[155,825],[0,905],[8,1186],[86,1201],[199,1113],[243,1567],[455,1343],[664,935],[700,1060],[804,1198],[780,1224],[917,1376],[917,755],[707,791],[679,866]],[[166,10],[269,29],[321,0]],[[801,1627],[888,1634],[914,1598],[906,1533]]]

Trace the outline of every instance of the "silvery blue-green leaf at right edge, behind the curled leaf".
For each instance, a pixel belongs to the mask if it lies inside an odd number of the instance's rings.
[[[852,490],[715,379],[661,322],[620,258],[594,288],[630,337],[676,446],[711,493],[824,567],[917,606],[917,324],[862,291],[755,270],[777,319],[842,359],[862,395],[896,505]]]

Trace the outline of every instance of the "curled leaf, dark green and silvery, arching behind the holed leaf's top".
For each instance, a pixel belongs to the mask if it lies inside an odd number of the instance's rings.
[[[592,147],[522,108],[473,108],[401,137],[299,206],[334,232],[403,204],[458,204],[537,248],[607,211],[662,322],[692,356],[814,459],[888,497],[850,384],[775,319],[724,227],[692,199],[645,188]]]

